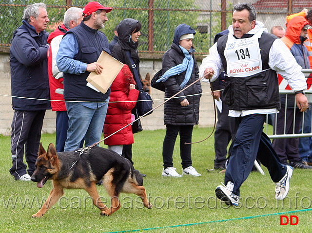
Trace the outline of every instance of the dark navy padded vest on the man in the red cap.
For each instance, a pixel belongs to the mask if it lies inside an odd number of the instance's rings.
[[[78,41],[79,50],[74,56],[75,60],[90,64],[98,60],[103,50],[110,53],[106,36],[83,22],[68,31],[65,36],[69,33],[73,33]],[[89,73],[87,71],[81,74],[63,73],[65,100],[101,102],[109,97],[110,89],[103,94],[86,86]]]

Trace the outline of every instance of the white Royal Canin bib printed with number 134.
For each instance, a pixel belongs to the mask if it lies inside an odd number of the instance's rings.
[[[229,34],[224,50],[227,62],[227,75],[230,77],[247,77],[262,71],[262,60],[258,38],[262,31],[250,38],[235,39]]]

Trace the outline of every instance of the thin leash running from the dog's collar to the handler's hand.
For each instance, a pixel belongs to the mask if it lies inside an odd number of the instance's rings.
[[[207,74],[208,74],[208,73],[207,73]],[[96,146],[97,144],[103,142],[104,140],[108,139],[109,137],[113,136],[114,134],[118,133],[119,131],[121,131],[122,129],[128,127],[129,125],[132,125],[134,122],[138,121],[139,119],[141,119],[142,117],[148,115],[150,112],[152,112],[152,111],[154,111],[155,109],[159,108],[160,106],[162,106],[163,104],[165,104],[166,102],[168,102],[169,100],[171,100],[172,98],[176,97],[176,95],[178,95],[178,94],[181,93],[182,91],[188,89],[189,87],[191,87],[192,85],[194,85],[195,83],[197,83],[198,81],[200,81],[200,80],[201,80],[202,78],[204,78],[207,74],[203,75],[202,77],[199,77],[199,78],[196,79],[193,83],[191,83],[190,85],[188,85],[188,86],[185,87],[184,89],[178,91],[176,94],[174,94],[173,96],[171,96],[170,98],[168,98],[167,100],[165,100],[164,102],[162,102],[161,104],[159,104],[158,106],[156,106],[155,108],[153,108],[153,109],[151,109],[150,111],[146,112],[144,115],[140,116],[139,118],[137,118],[137,119],[134,120],[133,122],[129,123],[128,125],[126,125],[126,126],[120,128],[120,129],[118,129],[116,132],[112,133],[111,135],[108,135],[106,138],[103,138],[102,140],[98,141],[97,143],[94,143],[94,144],[92,144],[92,145],[90,145],[90,146],[81,148],[81,150],[77,150],[77,151],[75,151],[75,152],[80,152],[80,154],[79,154],[79,157],[80,157],[80,155],[82,155],[85,151],[90,150],[92,147],[94,147],[94,146]],[[210,79],[209,79],[209,84],[210,84],[210,86],[211,86],[211,81],[210,81]],[[213,96],[214,96],[214,90],[213,90],[212,87],[211,87],[211,90],[212,90],[212,93],[213,93]],[[214,100],[214,108],[215,108],[215,98],[213,98],[213,100]],[[216,124],[216,108],[215,108],[215,124]],[[198,141],[198,142],[194,142],[194,143],[201,143],[201,142],[207,140],[207,139],[214,133],[214,131],[215,131],[215,124],[214,124],[213,131],[211,132],[211,134],[210,134],[207,138],[205,138],[205,139],[203,139],[203,140],[201,140],[201,141]],[[185,144],[192,144],[192,143],[185,143]],[[74,161],[74,162],[72,163],[72,165],[70,166],[69,169],[71,169],[71,168],[76,164],[77,161],[78,161],[78,160]]]

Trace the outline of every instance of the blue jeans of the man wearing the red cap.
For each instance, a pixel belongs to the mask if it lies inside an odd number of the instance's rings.
[[[108,102],[109,99],[105,100]],[[84,138],[85,146],[97,143],[101,139],[108,103],[98,108],[88,108],[80,103],[66,102],[68,130],[64,151],[79,148]]]

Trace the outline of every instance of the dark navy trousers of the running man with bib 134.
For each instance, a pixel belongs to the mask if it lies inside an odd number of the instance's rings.
[[[251,173],[255,159],[268,168],[273,182],[286,174],[286,166],[280,163],[268,136],[262,132],[266,114],[235,117],[235,137],[231,156],[225,172],[225,185],[234,183],[233,193],[239,196],[239,188]]]

